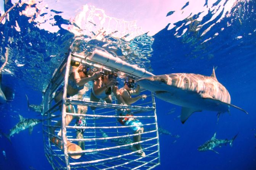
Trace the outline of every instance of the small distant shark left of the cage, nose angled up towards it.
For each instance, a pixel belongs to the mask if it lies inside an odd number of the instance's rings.
[[[42,122],[42,120],[39,120],[39,119],[26,119],[26,118],[23,118],[21,115],[19,115],[19,119],[20,121],[12,129],[10,129],[9,134],[3,133],[3,135],[6,138],[8,138],[10,142],[11,142],[10,137],[13,136],[15,133],[19,133],[22,130],[29,129],[29,134],[31,134],[33,127],[39,124],[40,122]]]

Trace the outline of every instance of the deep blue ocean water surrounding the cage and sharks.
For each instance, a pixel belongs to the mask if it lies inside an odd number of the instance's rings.
[[[218,6],[221,2],[217,0],[214,5]],[[184,3],[184,10],[192,3]],[[3,4],[5,11],[13,5],[11,1]],[[242,14],[238,13],[240,4]],[[27,6],[14,7],[9,12],[8,20],[0,25],[1,65],[6,47],[9,51],[2,83],[11,87],[15,95],[13,101],[0,106],[0,129],[4,133],[8,133],[19,121],[19,114],[24,118],[40,119],[38,113],[28,111],[25,95],[31,103],[41,103],[43,89],[55,68],[66,57],[74,40],[74,33],[63,28],[63,25],[72,25],[71,21],[63,19],[58,11],[53,11],[55,15],[49,20],[54,19],[52,25],[59,30],[49,32],[40,29],[38,21],[29,21],[27,16],[20,14]],[[153,36],[141,34],[129,41],[111,35],[104,35],[104,41],[89,38],[89,43],[95,46],[103,46],[108,42],[108,46],[115,47],[113,51],[116,54],[125,56],[124,60],[145,67],[155,75],[198,73],[209,76],[215,67],[218,81],[230,93],[231,103],[249,113],[246,115],[230,108],[230,114],[222,114],[217,122],[217,113],[203,111],[194,113],[182,124],[179,118],[180,106],[156,99],[158,125],[180,137],[160,135],[161,165],[155,169],[256,169],[256,2],[234,1],[229,12],[220,6],[219,10],[220,13],[213,20],[216,11],[208,11],[201,20],[198,19],[200,13],[193,14],[172,23],[175,25],[172,29],[168,29],[168,24],[165,25]],[[224,17],[221,18],[222,14]],[[17,27],[16,22],[19,23],[20,31],[14,29]],[[128,49],[127,46],[130,47],[128,54],[122,50]],[[168,114],[170,110],[175,111]],[[217,139],[231,139],[237,133],[238,136],[232,147],[214,148],[219,154],[197,151],[198,146],[210,140],[215,132]],[[34,127],[31,135],[27,130],[15,134],[11,137],[12,144],[3,135],[0,141],[0,169],[52,169],[44,155],[40,124]],[[6,159],[2,151],[5,151]]]

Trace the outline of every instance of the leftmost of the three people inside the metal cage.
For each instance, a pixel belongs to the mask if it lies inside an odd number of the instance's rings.
[[[96,80],[101,76],[100,72],[93,72],[89,67],[83,66],[79,62],[71,61],[72,72],[69,75],[68,79],[68,87],[67,87],[67,97],[72,97],[76,95],[80,90],[84,89],[84,84],[88,83],[89,81]],[[61,71],[62,72],[62,71]],[[63,97],[63,86],[60,86],[55,92],[54,100],[58,103],[62,100]],[[60,105],[61,108],[61,105]],[[66,112],[68,113],[76,113],[76,108],[73,105],[66,106]],[[72,121],[73,116],[66,115],[66,125]],[[79,126],[85,126],[85,120],[82,118],[78,119],[77,124]],[[55,126],[61,126],[61,119],[55,124]],[[50,128],[50,132],[54,134],[56,128]],[[61,130],[58,132],[58,136],[61,136]],[[53,138],[53,140],[55,140]]]

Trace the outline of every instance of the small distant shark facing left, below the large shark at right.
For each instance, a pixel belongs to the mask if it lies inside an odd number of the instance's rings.
[[[227,139],[219,140],[219,139],[216,139],[216,132],[215,132],[213,137],[211,138],[211,140],[206,141],[203,145],[199,146],[199,148],[197,150],[198,151],[209,151],[209,150],[214,151],[213,148],[215,148],[216,146],[221,147],[221,146],[227,145],[227,144],[232,146],[232,143],[235,140],[235,138],[237,137],[237,135],[235,135],[231,140],[227,140]],[[214,152],[219,154],[216,151],[214,151]]]

